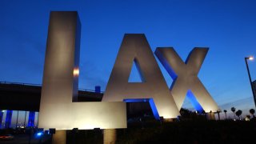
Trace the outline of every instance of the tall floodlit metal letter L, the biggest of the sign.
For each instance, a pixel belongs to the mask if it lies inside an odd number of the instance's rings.
[[[126,128],[125,102],[72,102],[78,93],[79,23],[77,12],[50,13],[38,127]]]

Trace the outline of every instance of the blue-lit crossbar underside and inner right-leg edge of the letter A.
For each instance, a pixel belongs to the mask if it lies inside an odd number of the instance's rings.
[[[159,114],[157,107],[154,104],[154,99],[153,98],[134,98],[134,99],[124,99],[124,102],[149,102],[151,110],[154,114],[154,118],[157,120],[160,120]]]

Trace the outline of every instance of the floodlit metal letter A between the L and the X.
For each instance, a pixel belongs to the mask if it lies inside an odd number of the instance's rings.
[[[140,71],[142,82],[128,82],[133,62]],[[125,34],[102,101],[139,100],[150,102],[155,118],[159,115],[177,118],[179,115],[145,35]]]

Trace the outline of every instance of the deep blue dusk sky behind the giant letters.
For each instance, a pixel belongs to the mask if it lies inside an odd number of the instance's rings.
[[[153,52],[172,46],[183,60],[194,47],[209,47],[198,78],[218,106],[243,114],[255,109],[244,60],[256,56],[254,0],[1,0],[0,81],[42,84],[51,10],[78,11],[80,89],[104,91],[124,34],[146,34]],[[249,67],[255,80],[256,61]]]

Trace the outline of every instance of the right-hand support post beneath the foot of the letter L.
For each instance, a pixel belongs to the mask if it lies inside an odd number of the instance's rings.
[[[103,130],[103,143],[104,144],[114,144],[117,139],[116,129],[105,129]]]

